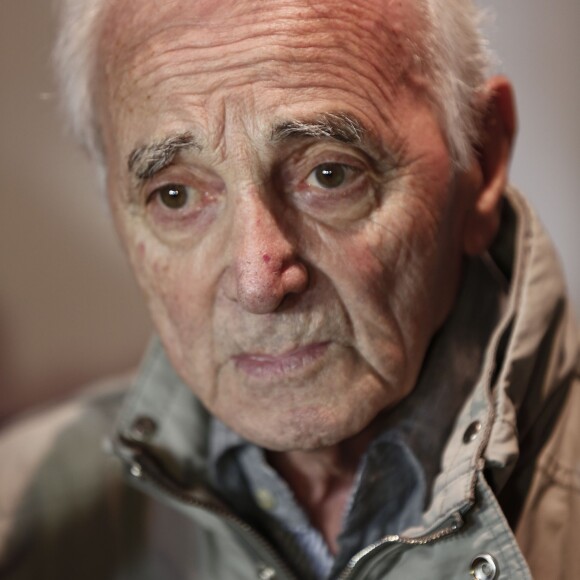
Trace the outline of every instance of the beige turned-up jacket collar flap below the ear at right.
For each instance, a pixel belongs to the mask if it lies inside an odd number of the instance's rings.
[[[506,195],[505,226],[494,250],[511,267],[511,288],[488,363],[496,419],[485,451],[498,490],[547,402],[567,388],[579,354],[576,321],[552,242],[525,199],[513,188]]]

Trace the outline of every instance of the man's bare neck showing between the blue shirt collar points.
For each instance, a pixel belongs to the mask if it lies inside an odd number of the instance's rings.
[[[338,535],[358,466],[376,433],[372,425],[331,447],[267,454],[333,554],[338,552]]]

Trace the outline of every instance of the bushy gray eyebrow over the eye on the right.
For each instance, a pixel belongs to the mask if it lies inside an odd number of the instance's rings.
[[[272,141],[294,138],[333,139],[341,143],[364,145],[367,131],[347,113],[325,113],[307,121],[285,121],[272,129]]]

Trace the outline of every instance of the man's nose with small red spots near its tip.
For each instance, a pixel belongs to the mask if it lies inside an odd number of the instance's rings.
[[[226,295],[249,312],[275,312],[286,296],[306,290],[308,270],[272,211],[257,195],[240,205],[234,217],[234,258]]]

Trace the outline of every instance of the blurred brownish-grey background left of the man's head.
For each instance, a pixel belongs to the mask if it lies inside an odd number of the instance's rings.
[[[55,6],[0,1],[0,417],[134,365],[150,332],[92,167],[63,129]]]

